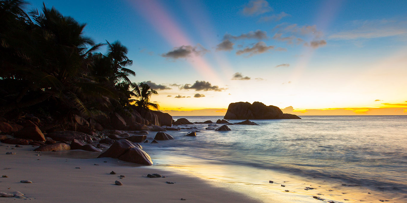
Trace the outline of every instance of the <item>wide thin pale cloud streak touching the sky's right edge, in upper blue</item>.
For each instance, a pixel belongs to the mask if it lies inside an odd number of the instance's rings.
[[[354,40],[407,36],[406,21],[392,19],[354,20],[344,27],[350,27],[351,29],[330,35],[328,39]]]

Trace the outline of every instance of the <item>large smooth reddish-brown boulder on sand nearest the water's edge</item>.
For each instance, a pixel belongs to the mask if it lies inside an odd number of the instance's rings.
[[[150,155],[129,140],[117,140],[98,158],[110,157],[136,164],[152,165]]]

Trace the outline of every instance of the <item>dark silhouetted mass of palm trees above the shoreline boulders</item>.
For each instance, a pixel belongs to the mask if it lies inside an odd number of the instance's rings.
[[[0,0],[0,116],[43,114],[60,123],[158,109],[147,84],[136,84],[133,61],[119,41],[96,44],[85,24],[55,8],[26,12],[23,0]],[[107,48],[103,53],[97,52]]]

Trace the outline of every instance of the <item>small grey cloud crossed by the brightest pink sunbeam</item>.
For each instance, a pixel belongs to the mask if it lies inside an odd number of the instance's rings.
[[[165,54],[161,54],[162,57],[166,58],[189,58],[193,55],[200,56],[208,52],[202,45],[197,44],[195,47],[191,45],[184,45],[180,47],[175,47],[172,51]]]

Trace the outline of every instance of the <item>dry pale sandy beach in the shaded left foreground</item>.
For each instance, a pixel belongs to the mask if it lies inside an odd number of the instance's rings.
[[[158,170],[154,166],[138,166],[112,158],[66,158],[67,154],[60,152],[31,151],[35,149],[31,145],[11,149],[13,147],[0,144],[1,175],[8,176],[0,178],[0,192],[19,191],[33,202],[179,202],[182,198],[188,202],[261,202],[232,190],[214,187],[197,177]],[[9,151],[16,154],[6,155]],[[71,154],[76,152],[92,154],[70,151]],[[59,155],[52,155],[55,153]],[[92,155],[96,157],[98,154]],[[111,171],[117,174],[112,175]],[[166,177],[149,178],[149,173]],[[120,179],[120,175],[125,178]],[[21,180],[33,183],[21,183]],[[115,185],[116,180],[123,185]],[[166,181],[175,184],[166,184]],[[13,200],[13,197],[0,198],[0,202]]]

